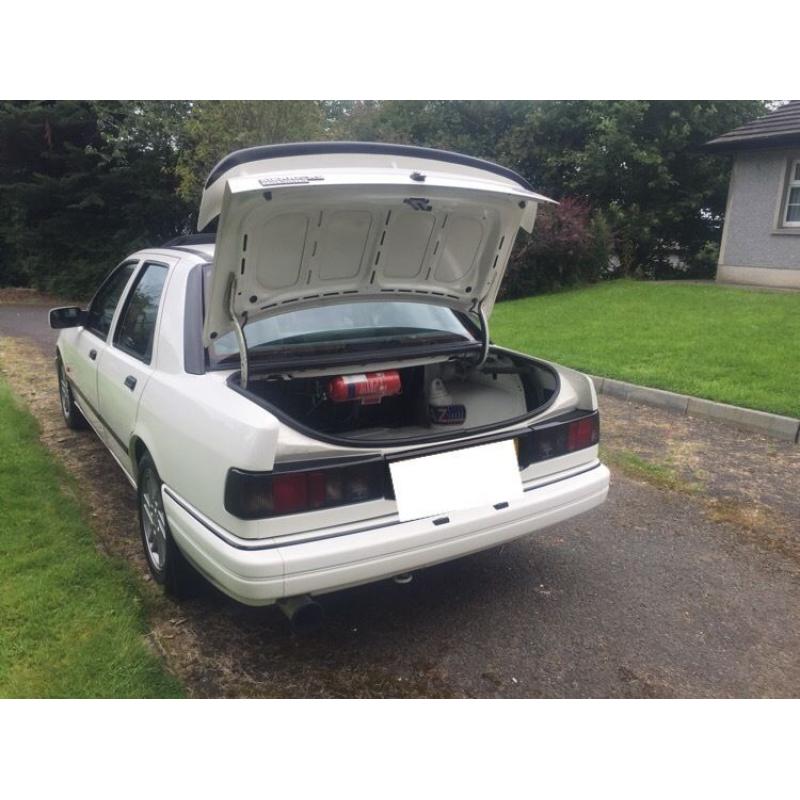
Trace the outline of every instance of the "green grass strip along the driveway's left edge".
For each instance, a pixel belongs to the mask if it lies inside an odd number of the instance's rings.
[[[100,554],[68,476],[0,380],[0,697],[175,697],[124,564]]]

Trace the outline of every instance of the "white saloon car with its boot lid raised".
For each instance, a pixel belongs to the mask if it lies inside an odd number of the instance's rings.
[[[179,593],[193,567],[300,625],[313,595],[601,504],[591,381],[489,341],[544,202],[439,150],[241,150],[206,183],[215,234],[134,253],[87,310],[51,311],[64,419],[137,488],[154,579]]]

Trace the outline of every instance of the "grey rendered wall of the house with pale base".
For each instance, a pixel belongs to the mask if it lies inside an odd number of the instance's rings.
[[[786,176],[795,158],[800,149],[736,155],[718,281],[800,288],[800,229],[780,228]]]

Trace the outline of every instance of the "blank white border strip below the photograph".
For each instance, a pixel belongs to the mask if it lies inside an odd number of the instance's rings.
[[[3,795],[14,800],[797,793],[795,701],[5,701],[0,710]]]

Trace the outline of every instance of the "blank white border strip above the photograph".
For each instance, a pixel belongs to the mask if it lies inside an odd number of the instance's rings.
[[[3,8],[0,95],[788,97],[795,11],[729,0],[17,0]]]

